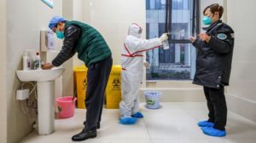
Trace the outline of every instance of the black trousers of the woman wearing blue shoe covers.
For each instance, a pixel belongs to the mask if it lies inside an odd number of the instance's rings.
[[[224,87],[220,89],[212,89],[204,87],[207,98],[207,106],[209,109],[209,122],[214,123],[215,129],[225,130],[227,123],[227,105],[224,96]]]

